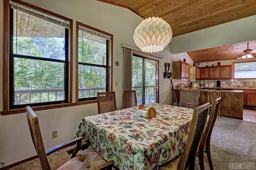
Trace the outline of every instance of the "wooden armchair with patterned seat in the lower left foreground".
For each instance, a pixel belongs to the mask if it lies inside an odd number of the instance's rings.
[[[112,170],[112,166],[114,165],[114,161],[106,161],[104,160],[94,149],[88,148],[80,152],[78,155],[77,152],[80,150],[81,141],[84,139],[83,137],[79,137],[73,139],[72,141],[68,141],[66,143],[60,144],[56,147],[52,147],[48,150],[44,149],[44,143],[39,127],[38,117],[32,110],[30,106],[26,106],[26,114],[28,118],[28,125],[30,129],[30,134],[32,137],[32,141],[34,143],[34,147],[38,154],[38,158],[42,167],[42,170],[51,170],[50,164],[48,162],[47,156],[66,147],[76,145],[76,149],[74,150],[71,159],[63,164],[58,170],[67,170],[67,169],[101,169],[101,170]]]

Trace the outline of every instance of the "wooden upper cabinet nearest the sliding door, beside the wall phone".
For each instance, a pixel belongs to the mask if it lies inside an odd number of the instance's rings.
[[[173,61],[172,78],[189,79],[189,63],[183,61]]]

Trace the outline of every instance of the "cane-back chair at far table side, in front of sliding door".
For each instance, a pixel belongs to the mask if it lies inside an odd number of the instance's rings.
[[[137,105],[137,97],[135,90],[125,90],[123,92],[124,109],[135,107]]]

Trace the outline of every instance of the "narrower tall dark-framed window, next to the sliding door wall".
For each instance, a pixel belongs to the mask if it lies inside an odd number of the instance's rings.
[[[108,66],[111,35],[77,22],[78,100],[94,100],[109,90]]]

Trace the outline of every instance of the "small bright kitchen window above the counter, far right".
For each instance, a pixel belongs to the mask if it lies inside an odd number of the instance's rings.
[[[234,78],[256,78],[256,62],[234,63]]]

